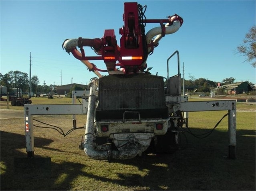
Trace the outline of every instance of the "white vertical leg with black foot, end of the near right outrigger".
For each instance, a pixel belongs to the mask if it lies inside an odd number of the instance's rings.
[[[236,158],[236,102],[232,103],[232,110],[228,110],[228,158]]]

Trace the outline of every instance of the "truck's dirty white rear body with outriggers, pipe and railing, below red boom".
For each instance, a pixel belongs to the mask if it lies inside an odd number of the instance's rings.
[[[169,59],[175,54],[178,57],[178,75],[169,78]],[[167,107],[167,117],[165,118],[154,118],[154,116],[145,118],[143,117],[143,110],[118,110],[118,112],[114,113],[116,115],[121,112],[118,119],[99,117],[101,116],[101,112],[103,112],[100,109],[101,106],[99,106],[99,101],[101,100],[99,98],[99,83],[101,83],[99,79],[93,79],[91,81],[89,84],[89,95],[84,94],[82,96],[81,104],[75,103],[76,96],[73,96],[73,104],[25,104],[24,117],[27,156],[34,157],[34,115],[87,114],[85,141],[79,147],[90,158],[111,160],[131,159],[135,156],[141,156],[152,143],[156,144],[159,142],[160,147],[165,147],[165,144],[171,145],[173,142],[174,145],[178,145],[179,128],[185,124],[180,124],[180,120],[183,118],[180,115],[181,112],[185,112],[186,116],[188,116],[188,112],[227,110],[229,135],[228,157],[231,159],[236,158],[236,100],[188,102],[188,96],[181,95],[178,51],[175,51],[167,59],[167,79],[167,89],[164,95],[165,106]],[[113,87],[110,89],[112,91]],[[106,95],[106,91],[103,92]],[[115,98],[111,102],[114,102],[114,100]],[[111,107],[108,105],[108,100],[104,104],[105,108]],[[114,105],[116,104],[114,103]],[[109,110],[107,112],[111,111]],[[146,116],[149,116],[147,112],[145,113]],[[103,116],[105,114],[103,113]],[[171,133],[171,136],[168,136],[167,132]],[[163,136],[167,136],[167,142],[161,142]],[[97,142],[97,138],[106,138],[108,142],[101,144]],[[109,140],[111,141],[109,142]]]

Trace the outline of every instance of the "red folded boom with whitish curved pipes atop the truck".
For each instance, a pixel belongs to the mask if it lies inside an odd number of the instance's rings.
[[[168,16],[168,19],[147,20],[144,15],[144,8],[146,9],[146,6],[142,7],[137,2],[124,3],[124,26],[119,29],[119,34],[122,35],[120,47],[117,44],[113,29],[105,30],[101,39],[84,39],[82,37],[66,39],[62,47],[81,60],[98,77],[101,77],[99,71],[109,72],[109,74],[141,73],[147,68],[147,57],[153,53],[153,49],[158,45],[159,40],[165,34],[171,34],[179,30],[183,23],[183,19],[177,14]],[[160,26],[145,33],[146,23],[159,23]],[[85,46],[92,47],[99,56],[85,56],[83,49]],[[77,50],[77,47],[81,52]],[[103,60],[107,70],[98,69],[89,60]],[[117,69],[117,66],[120,69]]]

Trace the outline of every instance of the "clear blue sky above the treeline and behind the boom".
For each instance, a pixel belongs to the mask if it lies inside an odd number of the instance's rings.
[[[101,38],[105,29],[114,29],[120,45],[119,28],[123,26],[123,3],[134,1],[98,0],[0,0],[0,73],[21,71],[36,75],[40,85],[88,84],[92,77],[81,61],[62,49],[69,38]],[[136,1],[135,1],[136,2]],[[221,82],[256,83],[256,70],[246,57],[235,54],[244,36],[256,24],[255,0],[137,1],[147,5],[147,19],[165,19],[178,14],[181,28],[165,35],[147,59],[152,74],[167,77],[167,58],[179,51],[181,74],[185,79],[205,78]],[[146,32],[159,24],[147,24]],[[87,56],[96,56],[85,47]],[[103,61],[91,61],[105,69]],[[177,57],[169,61],[169,73],[177,74]],[[107,73],[102,73],[106,75]]]

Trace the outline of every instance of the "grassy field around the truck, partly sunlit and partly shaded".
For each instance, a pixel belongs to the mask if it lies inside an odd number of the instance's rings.
[[[71,98],[34,99],[33,103],[71,103]],[[255,109],[255,105],[237,104],[236,159],[227,158],[227,117],[205,139],[185,133],[187,146],[173,154],[111,162],[90,159],[79,150],[84,129],[63,137],[54,130],[35,128],[35,157],[51,158],[51,174],[30,179],[14,178],[13,158],[26,158],[24,119],[1,120],[1,190],[255,190],[256,112],[239,111],[252,107]],[[189,126],[194,133],[202,134],[226,113],[190,112]],[[71,115],[36,119],[60,126],[65,132],[72,127]],[[86,115],[77,116],[77,126],[85,123]],[[185,142],[185,136],[181,140]]]

